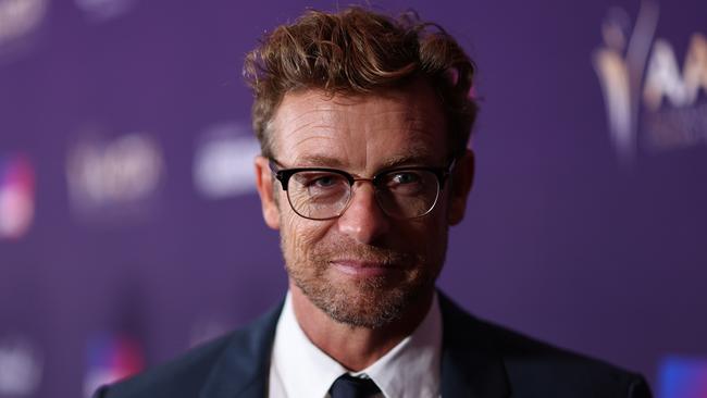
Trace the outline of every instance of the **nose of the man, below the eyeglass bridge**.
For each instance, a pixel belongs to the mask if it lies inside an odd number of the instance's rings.
[[[375,199],[372,184],[356,183],[349,203],[344,214],[338,217],[338,229],[359,244],[372,244],[389,227],[388,216]]]

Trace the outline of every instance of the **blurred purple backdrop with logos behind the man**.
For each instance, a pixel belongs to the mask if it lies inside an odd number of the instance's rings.
[[[337,7],[0,0],[0,397],[88,397],[283,299],[240,69]],[[707,397],[707,3],[372,7],[414,8],[479,65],[441,288],[659,398]]]

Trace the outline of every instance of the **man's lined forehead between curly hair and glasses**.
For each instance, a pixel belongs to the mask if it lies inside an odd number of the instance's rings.
[[[271,125],[273,148],[286,165],[359,167],[442,162],[446,123],[425,84],[370,95],[287,94]]]

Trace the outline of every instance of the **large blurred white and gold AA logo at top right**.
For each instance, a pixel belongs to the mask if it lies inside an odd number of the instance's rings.
[[[657,3],[644,1],[631,30],[628,13],[611,9],[601,27],[605,47],[594,52],[611,140],[624,166],[638,149],[707,142],[707,103],[699,101],[707,94],[707,38],[692,35],[680,71],[672,45],[654,40],[658,16]]]

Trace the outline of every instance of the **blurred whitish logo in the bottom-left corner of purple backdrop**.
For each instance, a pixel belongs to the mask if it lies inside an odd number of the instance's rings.
[[[41,382],[42,359],[21,336],[0,339],[0,396],[34,395]]]

